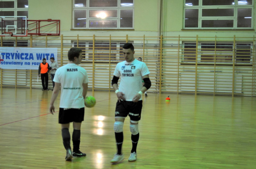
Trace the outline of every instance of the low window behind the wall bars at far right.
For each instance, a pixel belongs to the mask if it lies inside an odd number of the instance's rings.
[[[235,64],[251,65],[252,49],[251,42],[184,42],[183,63],[233,64],[235,50]]]

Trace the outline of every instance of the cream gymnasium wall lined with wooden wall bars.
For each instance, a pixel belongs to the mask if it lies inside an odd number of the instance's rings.
[[[160,2],[135,0],[134,30],[73,30],[71,0],[30,0],[28,18],[59,19],[61,36],[12,37],[10,40],[25,40],[28,47],[57,47],[59,65],[68,62],[67,51],[74,46],[74,42],[133,42],[135,58],[142,57],[151,72],[150,92],[256,96],[255,30],[183,30],[183,1],[163,0],[161,22]],[[255,28],[256,21],[253,23]],[[161,34],[163,36],[159,36]],[[251,65],[183,63],[186,57],[183,42],[198,42],[202,39],[211,42],[252,42]],[[6,39],[1,38],[1,46],[4,41]],[[102,52],[104,57],[111,56],[111,53],[120,53],[119,49],[84,50],[87,56],[88,53],[96,56]],[[234,53],[230,55],[235,57]],[[83,60],[81,66],[88,71],[90,90],[112,90],[110,81],[114,68],[122,60],[120,54],[117,56],[120,57],[116,57],[114,61]],[[0,71],[0,87],[41,88],[40,81],[37,82],[37,71]]]

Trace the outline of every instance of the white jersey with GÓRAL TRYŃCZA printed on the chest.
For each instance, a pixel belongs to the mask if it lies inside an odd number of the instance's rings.
[[[137,59],[132,62],[120,62],[116,65],[114,76],[120,77],[119,91],[124,93],[126,101],[133,101],[133,97],[142,88],[142,76],[150,74],[147,65]],[[140,97],[140,100],[142,98]]]

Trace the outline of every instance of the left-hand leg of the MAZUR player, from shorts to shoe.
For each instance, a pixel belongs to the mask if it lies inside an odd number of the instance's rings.
[[[66,149],[66,160],[72,160],[72,151],[70,147],[70,133],[69,133],[69,118],[70,115],[63,108],[59,108],[59,123],[62,127],[62,140],[64,148]]]

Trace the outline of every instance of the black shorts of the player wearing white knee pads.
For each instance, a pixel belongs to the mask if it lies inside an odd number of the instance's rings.
[[[117,101],[115,117],[130,116],[130,120],[139,121],[141,118],[142,100],[138,102]]]

